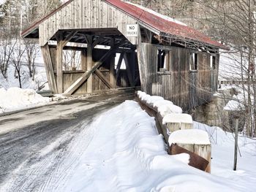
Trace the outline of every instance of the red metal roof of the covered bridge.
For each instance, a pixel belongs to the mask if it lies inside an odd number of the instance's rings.
[[[25,36],[31,33],[31,31],[34,31],[34,29],[36,29],[40,23],[50,18],[51,15],[58,12],[59,9],[62,9],[63,7],[67,6],[67,4],[69,4],[72,1],[74,0],[69,0],[65,4],[62,4],[61,7],[59,7],[58,9],[54,10],[53,12],[50,12],[50,14],[47,15],[45,18],[42,18],[42,20],[39,20],[29,28],[24,30],[22,32],[22,35]],[[188,26],[183,26],[181,24],[178,24],[169,20],[165,20],[164,18],[154,15],[151,12],[147,12],[146,10],[140,9],[140,7],[137,7],[135,5],[128,4],[120,0],[105,0],[105,1],[108,4],[112,5],[113,7],[116,7],[117,9],[120,9],[121,11],[132,16],[133,18],[138,19],[138,21],[142,23],[146,23],[146,25],[151,26],[151,28],[155,28],[157,29],[157,31],[160,31],[164,34],[169,34],[170,36],[175,36],[180,39],[189,39],[195,42],[203,42],[206,45],[227,49],[227,47],[220,44],[219,42],[212,40],[210,37],[207,37],[206,35],[202,34],[200,31],[197,31]]]

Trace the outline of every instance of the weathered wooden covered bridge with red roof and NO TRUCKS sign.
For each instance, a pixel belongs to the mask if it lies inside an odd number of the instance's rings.
[[[70,0],[23,31],[39,39],[54,93],[140,86],[183,107],[211,100],[219,48],[209,37],[144,7],[119,0]],[[63,51],[80,52],[64,70]]]

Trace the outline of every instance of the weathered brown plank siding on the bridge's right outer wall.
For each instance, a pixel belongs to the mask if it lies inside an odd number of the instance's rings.
[[[141,89],[148,94],[162,96],[184,110],[211,101],[217,79],[211,69],[210,54],[197,53],[197,70],[189,68],[189,49],[171,47],[170,71],[157,72],[157,46],[138,45]]]

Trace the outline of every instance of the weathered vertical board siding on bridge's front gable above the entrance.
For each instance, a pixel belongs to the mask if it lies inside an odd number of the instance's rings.
[[[126,25],[135,19],[101,0],[75,0],[39,24],[39,44],[45,45],[61,29],[118,28],[126,36]],[[138,44],[138,37],[127,37]]]

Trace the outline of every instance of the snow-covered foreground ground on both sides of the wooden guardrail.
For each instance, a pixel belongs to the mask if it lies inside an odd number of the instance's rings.
[[[187,154],[167,155],[154,118],[135,101],[103,113],[90,128],[93,139],[79,154],[72,154],[78,156],[72,162],[74,170],[55,191],[255,191],[254,140],[240,138],[243,158],[233,172],[233,137],[195,123],[214,142],[213,174],[208,174],[188,166]],[[88,141],[82,139],[76,146],[83,142]]]

